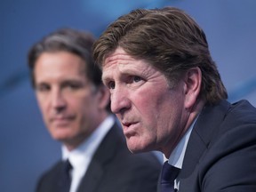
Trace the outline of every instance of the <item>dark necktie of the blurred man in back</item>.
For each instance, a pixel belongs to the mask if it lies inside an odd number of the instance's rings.
[[[71,177],[70,177],[71,169],[72,169],[72,165],[69,163],[68,160],[62,163],[60,183],[59,183],[60,192],[69,192],[70,185],[71,185]]]

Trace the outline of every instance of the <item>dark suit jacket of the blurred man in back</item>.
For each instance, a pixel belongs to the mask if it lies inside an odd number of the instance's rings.
[[[60,162],[44,173],[37,192],[58,192]],[[152,153],[132,155],[116,124],[100,143],[78,192],[155,192],[161,164]]]

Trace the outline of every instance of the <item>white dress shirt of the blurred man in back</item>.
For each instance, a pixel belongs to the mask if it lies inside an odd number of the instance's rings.
[[[69,192],[76,192],[78,189],[78,186],[92,161],[92,156],[100,146],[101,140],[103,140],[114,123],[115,117],[108,116],[78,148],[68,151],[68,148],[62,146],[62,159],[68,159],[73,167],[70,173],[72,181]]]

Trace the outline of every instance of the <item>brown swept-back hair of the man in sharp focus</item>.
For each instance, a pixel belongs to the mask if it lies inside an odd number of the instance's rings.
[[[147,60],[173,85],[189,68],[198,67],[203,76],[199,97],[208,104],[228,98],[203,29],[178,8],[137,9],[110,24],[93,44],[93,58],[100,68],[117,47]]]

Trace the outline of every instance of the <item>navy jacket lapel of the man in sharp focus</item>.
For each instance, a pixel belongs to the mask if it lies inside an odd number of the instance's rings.
[[[228,101],[223,100],[218,106],[204,107],[200,116],[198,116],[188,140],[188,147],[186,149],[182,170],[180,172],[180,189],[182,188],[186,191],[192,189],[191,186],[182,185],[182,182],[189,183],[189,180],[196,178],[196,174],[198,173],[197,165],[200,162],[200,158],[204,156],[211,140],[218,132],[220,124],[225,114],[228,112],[229,107],[230,104]]]

